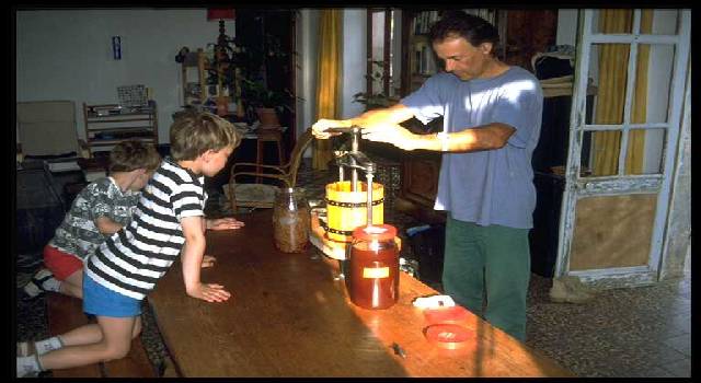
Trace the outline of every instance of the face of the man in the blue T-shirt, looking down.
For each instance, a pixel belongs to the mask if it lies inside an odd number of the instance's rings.
[[[446,71],[460,80],[472,80],[482,77],[486,63],[491,59],[491,43],[482,43],[475,47],[463,37],[447,37],[433,44],[438,58],[446,62]]]

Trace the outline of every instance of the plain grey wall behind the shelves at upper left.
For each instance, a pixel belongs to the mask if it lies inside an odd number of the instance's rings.
[[[233,21],[227,22],[233,34]],[[16,101],[71,100],[84,138],[82,103],[116,103],[117,86],[145,84],[159,107],[159,141],[169,141],[171,115],[181,108],[183,47],[216,42],[217,22],[205,9],[42,10],[16,13]],[[122,60],[112,58],[122,37]]]

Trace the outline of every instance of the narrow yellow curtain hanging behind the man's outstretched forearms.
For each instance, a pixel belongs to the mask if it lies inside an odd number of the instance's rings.
[[[317,77],[317,119],[340,118],[343,63],[343,10],[322,10],[319,25],[319,73]],[[333,159],[331,140],[314,140],[312,166],[329,169]]]

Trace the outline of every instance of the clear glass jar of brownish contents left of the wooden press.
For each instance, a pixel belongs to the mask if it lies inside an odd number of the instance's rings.
[[[273,206],[273,237],[283,253],[301,253],[309,244],[310,208],[301,188],[280,188]]]

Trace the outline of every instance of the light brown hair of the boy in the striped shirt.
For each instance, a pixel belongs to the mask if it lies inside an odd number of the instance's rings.
[[[241,134],[231,123],[207,112],[187,112],[171,125],[171,155],[175,161],[195,160],[208,150],[235,148]]]

